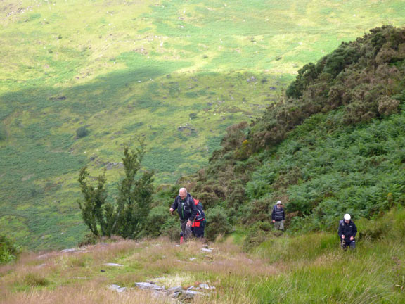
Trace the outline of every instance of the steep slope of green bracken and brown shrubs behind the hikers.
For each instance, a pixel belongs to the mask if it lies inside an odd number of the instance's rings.
[[[405,203],[405,30],[371,30],[305,65],[285,99],[230,127],[189,186],[233,223],[269,222],[285,203],[290,229],[334,229]],[[264,225],[264,227],[267,227]]]

